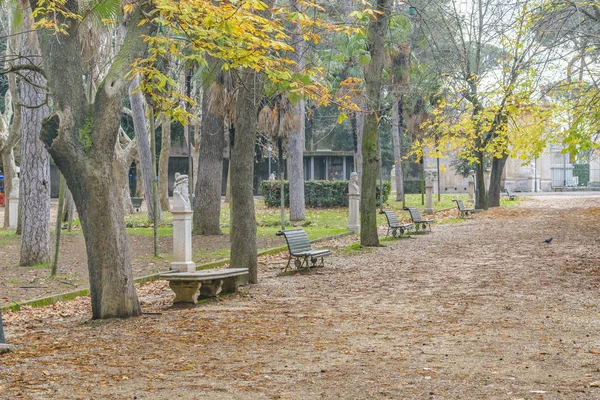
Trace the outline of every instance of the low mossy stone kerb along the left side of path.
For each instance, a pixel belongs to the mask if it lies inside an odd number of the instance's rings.
[[[327,240],[337,239],[337,238],[349,236],[349,235],[352,235],[352,232],[344,232],[344,233],[340,233],[340,234],[333,235],[333,236],[325,236],[322,238],[311,240],[311,243],[324,242]],[[271,249],[259,251],[258,256],[260,257],[260,256],[268,255],[268,254],[277,254],[277,253],[281,253],[282,251],[286,251],[286,250],[287,250],[287,245],[280,246],[280,247],[273,247]],[[225,264],[229,264],[229,258],[223,258],[221,260],[216,260],[216,261],[211,261],[208,263],[200,264],[196,267],[196,270],[216,268],[216,267],[220,267]],[[135,278],[135,283],[144,284],[144,283],[154,282],[154,281],[160,279],[160,277],[159,277],[160,274],[161,273],[156,273],[156,274],[151,274],[151,275],[146,275],[146,276],[141,276],[141,277]],[[2,310],[19,311],[22,306],[34,307],[34,308],[35,307],[45,307],[45,306],[49,306],[51,304],[58,303],[59,301],[73,300],[74,298],[81,297],[81,296],[87,296],[89,294],[90,294],[89,288],[82,288],[82,289],[74,290],[72,292],[55,294],[55,295],[48,296],[48,297],[41,297],[39,299],[13,302],[13,303],[7,304],[5,306],[2,306]]]

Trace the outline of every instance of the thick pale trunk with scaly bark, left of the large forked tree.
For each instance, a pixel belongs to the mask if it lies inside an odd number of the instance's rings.
[[[28,9],[29,10],[29,9]],[[40,45],[33,20],[25,11],[23,54],[32,63],[41,64]],[[39,73],[26,71],[20,82],[21,103],[21,258],[20,265],[50,262],[50,155],[39,140],[42,120],[48,116],[45,105],[46,79]]]

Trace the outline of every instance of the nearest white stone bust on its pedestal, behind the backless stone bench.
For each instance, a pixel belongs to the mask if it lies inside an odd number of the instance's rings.
[[[173,190],[173,262],[171,269],[196,271],[192,261],[192,207],[187,193],[187,176],[176,174]],[[197,288],[196,288],[197,289]]]

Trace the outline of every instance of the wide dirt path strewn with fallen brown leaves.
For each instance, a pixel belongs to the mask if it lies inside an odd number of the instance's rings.
[[[600,196],[545,196],[172,308],[5,313],[6,399],[600,399]],[[544,239],[552,237],[551,243]]]

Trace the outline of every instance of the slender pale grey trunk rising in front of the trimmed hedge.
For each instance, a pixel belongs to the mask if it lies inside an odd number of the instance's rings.
[[[293,11],[302,12],[297,0],[290,0],[290,8]],[[296,71],[303,73],[305,57],[308,46],[302,36],[302,27],[295,24],[292,31],[292,43],[294,44],[294,61]],[[288,140],[288,174],[290,191],[290,221],[301,221],[306,219],[304,199],[304,135],[306,108],[303,99],[293,106],[293,112],[298,119],[298,125],[290,132]]]

